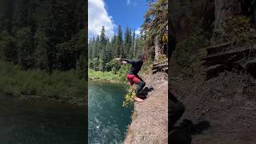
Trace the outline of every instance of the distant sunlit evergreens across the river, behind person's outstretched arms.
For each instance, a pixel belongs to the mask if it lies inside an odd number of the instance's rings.
[[[121,65],[114,58],[136,58],[136,55],[142,53],[143,42],[143,39],[136,37],[135,31],[129,27],[126,27],[124,36],[122,36],[121,26],[118,26],[118,34],[114,34],[113,38],[108,38],[102,26],[101,34],[89,40],[90,69],[118,71]]]

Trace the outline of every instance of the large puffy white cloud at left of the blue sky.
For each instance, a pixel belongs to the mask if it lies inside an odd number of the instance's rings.
[[[96,37],[100,34],[102,26],[105,27],[106,36],[111,38],[114,35],[113,18],[107,13],[106,6],[103,0],[88,1],[88,36],[89,38]]]

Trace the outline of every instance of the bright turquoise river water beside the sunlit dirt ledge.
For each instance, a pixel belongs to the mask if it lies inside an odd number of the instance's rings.
[[[89,143],[122,143],[132,108],[122,106],[126,89],[122,84],[89,82]]]

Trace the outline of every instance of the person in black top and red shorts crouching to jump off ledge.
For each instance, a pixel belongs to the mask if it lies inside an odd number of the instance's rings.
[[[146,82],[138,76],[139,70],[141,70],[143,62],[145,61],[145,55],[139,57],[138,60],[126,59],[126,58],[116,58],[118,61],[122,61],[123,64],[131,64],[130,72],[127,74],[127,79],[130,82],[130,86],[133,86],[134,83],[137,85],[136,96],[134,100],[137,102],[143,102],[142,98],[139,98],[140,92],[143,87],[146,86]]]

